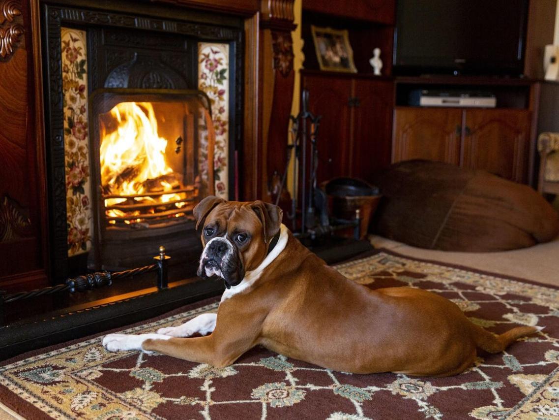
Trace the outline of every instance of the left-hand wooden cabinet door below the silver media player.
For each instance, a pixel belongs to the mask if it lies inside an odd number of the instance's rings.
[[[394,117],[392,162],[427,159],[459,164],[461,110],[397,108]]]

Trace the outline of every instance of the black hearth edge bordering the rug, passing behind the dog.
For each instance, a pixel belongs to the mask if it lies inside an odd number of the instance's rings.
[[[369,255],[373,251],[366,240],[340,238],[310,248],[328,264]],[[150,276],[153,279],[154,274]],[[146,287],[30,316],[0,326],[0,360],[153,318],[219,296],[224,290],[224,283],[219,278],[186,278],[169,283],[168,288]]]

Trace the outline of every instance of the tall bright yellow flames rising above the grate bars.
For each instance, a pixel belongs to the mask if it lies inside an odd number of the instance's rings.
[[[149,102],[120,102],[110,114],[118,127],[107,133],[102,125],[101,184],[110,194],[143,194],[145,181],[173,172],[165,161],[167,139],[159,137]]]

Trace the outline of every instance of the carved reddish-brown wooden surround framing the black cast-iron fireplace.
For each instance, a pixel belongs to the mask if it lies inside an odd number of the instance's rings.
[[[269,200],[285,166],[294,0],[151,0],[245,22],[238,198]],[[50,285],[40,0],[0,0],[0,290]],[[233,163],[233,162],[232,162]],[[64,174],[54,174],[64,178]],[[65,223],[65,221],[50,221]]]

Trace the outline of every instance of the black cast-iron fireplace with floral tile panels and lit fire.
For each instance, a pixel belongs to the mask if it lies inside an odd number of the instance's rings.
[[[243,20],[42,9],[54,278],[139,267],[159,245],[183,266],[171,280],[194,274],[193,207],[235,198]]]

